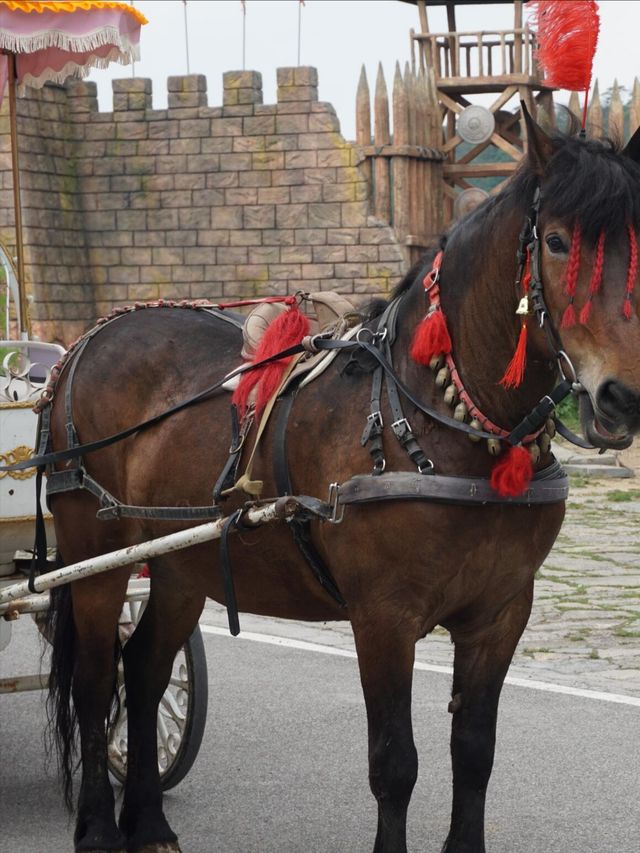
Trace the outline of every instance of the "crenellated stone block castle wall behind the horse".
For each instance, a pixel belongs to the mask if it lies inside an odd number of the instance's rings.
[[[393,230],[370,215],[360,155],[318,101],[313,68],[224,75],[221,107],[202,76],[95,84],[19,99],[27,285],[36,331],[69,343],[124,303],[234,300],[335,289],[386,293],[405,270]],[[4,110],[4,108],[3,108]],[[4,113],[3,113],[4,115]],[[12,240],[6,118],[0,117],[0,236]]]

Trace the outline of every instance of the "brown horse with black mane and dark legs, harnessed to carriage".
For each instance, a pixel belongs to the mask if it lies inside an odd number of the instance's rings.
[[[509,430],[550,394],[559,365],[580,392],[583,431],[594,444],[623,446],[640,430],[640,320],[634,293],[638,142],[620,152],[609,143],[551,138],[530,119],[528,135],[529,153],[507,188],[457,224],[441,244],[441,311],[452,341],[450,358],[465,389],[463,395],[454,387],[449,400],[456,406],[457,400],[473,401],[474,427],[483,428],[484,437],[478,440],[472,431],[472,441],[423,410],[426,406],[451,414],[440,387],[450,380],[446,370],[442,373],[442,360],[435,359],[434,376],[410,357],[427,306],[423,279],[434,266],[434,249],[392,300],[397,328],[391,360],[403,383],[404,415],[424,473],[417,474],[414,457],[389,430],[396,411],[383,392],[386,427],[372,441],[377,441],[373,455],[378,471],[383,454],[385,477],[391,477],[388,472],[413,472],[423,483],[436,482],[424,464],[428,457],[437,475],[452,475],[448,483],[473,476],[490,488],[486,478],[496,459],[488,446],[499,452]],[[526,264],[525,243],[530,255]],[[518,274],[523,265],[525,277],[531,274],[529,294]],[[529,301],[522,310],[527,312],[533,302],[535,314],[516,314],[523,292]],[[519,338],[525,320],[528,337]],[[369,319],[366,326],[379,329],[379,318]],[[373,332],[367,339],[375,339]],[[518,340],[524,378],[505,388],[500,379]],[[92,335],[62,371],[51,408],[53,449],[67,447],[69,440],[65,395],[70,388],[77,438],[90,442],[196,394],[211,375],[218,378],[236,366],[240,346],[238,329],[206,312],[152,307],[123,314]],[[372,443],[365,449],[360,442],[371,412],[376,362],[369,351],[360,351],[351,362],[348,356],[339,353],[293,399],[286,430],[294,495],[324,498],[331,483],[345,483],[354,475],[374,484],[380,479],[371,476],[367,449]],[[413,401],[403,388],[411,391]],[[263,480],[264,496],[279,493],[272,457],[284,423],[279,416],[283,405],[282,400],[276,405],[256,453],[253,475]],[[456,411],[460,423],[469,421],[467,410]],[[539,448],[531,456],[536,471],[553,463],[539,420],[533,418],[533,438],[524,440],[525,447]],[[496,432],[491,424],[505,432]],[[493,444],[486,440],[489,433]],[[247,446],[250,441],[251,436]],[[128,505],[203,506],[211,503],[212,485],[229,445],[229,396],[215,393],[153,428],[86,455],[84,464],[94,481]],[[67,470],[62,464],[56,467]],[[227,498],[224,514],[244,500],[246,496]],[[58,547],[67,564],[185,526],[140,518],[97,520],[98,503],[86,489],[53,494],[52,506]],[[498,494],[475,506],[446,495],[438,501],[405,497],[346,506],[341,524],[312,521],[310,526],[313,547],[346,606],[317,582],[287,524],[229,538],[241,611],[351,621],[368,715],[369,781],[378,802],[375,853],[406,851],[407,808],[418,769],[411,728],[414,647],[437,625],[455,643],[449,707],[453,809],[443,849],[484,851],[485,795],[500,690],[529,617],[534,575],[563,515],[559,498],[509,505]],[[193,630],[206,597],[225,601],[216,551],[200,545],[151,563],[149,604],[123,652],[129,769],[118,824],[107,776],[106,721],[116,624],[129,569],[78,581],[56,596],[52,683],[67,773],[76,719],[80,734],[76,850],[179,849],[162,811],[155,722],[174,655]],[[317,849],[322,849],[321,838]]]

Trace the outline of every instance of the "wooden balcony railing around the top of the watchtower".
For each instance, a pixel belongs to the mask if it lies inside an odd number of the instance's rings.
[[[418,64],[415,47],[418,46]],[[511,77],[538,74],[535,36],[528,26],[514,30],[467,33],[411,31],[413,67],[433,68],[436,79],[447,77]]]

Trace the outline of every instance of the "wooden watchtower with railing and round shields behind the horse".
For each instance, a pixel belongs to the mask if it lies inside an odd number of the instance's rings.
[[[474,31],[458,30],[456,7],[476,5],[477,0],[403,2],[418,7],[419,30],[410,33],[413,69],[435,79],[447,157],[444,213],[450,221],[496,192],[513,173],[526,145],[519,102],[534,116],[542,106],[544,118],[553,121],[553,90],[540,78],[535,36],[523,19],[521,0],[483,0],[510,6],[513,24],[511,29]],[[428,13],[435,6],[446,7],[446,32],[429,29]]]

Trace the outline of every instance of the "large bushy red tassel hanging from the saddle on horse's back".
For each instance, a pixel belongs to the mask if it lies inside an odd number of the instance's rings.
[[[262,340],[258,344],[253,362],[262,361],[283,349],[299,344],[305,335],[309,334],[309,330],[309,320],[300,311],[298,306],[294,305],[269,324],[269,327],[262,336]],[[278,390],[284,371],[291,358],[292,356],[280,358],[271,364],[266,364],[264,367],[250,370],[242,376],[232,398],[232,401],[238,407],[241,417],[246,411],[249,395],[256,385],[258,385],[256,414],[262,411],[269,399]]]

